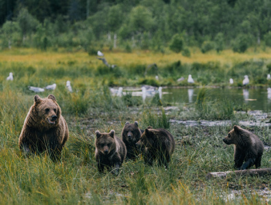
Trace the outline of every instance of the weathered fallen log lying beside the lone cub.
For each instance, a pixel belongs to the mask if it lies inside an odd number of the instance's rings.
[[[228,171],[228,172],[209,172],[206,175],[207,179],[211,178],[226,178],[229,175],[235,176],[263,176],[263,175],[271,175],[271,168],[264,169],[245,169],[245,170],[237,170],[237,171]]]

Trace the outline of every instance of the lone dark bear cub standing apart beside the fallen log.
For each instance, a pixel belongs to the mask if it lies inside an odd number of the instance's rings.
[[[247,169],[253,165],[261,166],[261,155],[263,154],[263,142],[249,131],[240,126],[233,126],[224,143],[234,144],[234,163],[237,169]],[[243,164],[243,162],[245,163]]]

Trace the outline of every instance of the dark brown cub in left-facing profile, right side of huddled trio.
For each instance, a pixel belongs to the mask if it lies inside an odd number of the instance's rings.
[[[145,129],[137,146],[144,146],[144,162],[153,165],[157,159],[158,165],[168,167],[170,156],[175,150],[175,139],[164,128],[153,129],[151,126]]]

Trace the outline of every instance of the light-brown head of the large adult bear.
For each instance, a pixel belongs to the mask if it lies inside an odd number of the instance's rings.
[[[38,120],[39,126],[53,127],[60,122],[61,109],[57,105],[55,96],[50,94],[47,98],[34,96],[34,118]]]

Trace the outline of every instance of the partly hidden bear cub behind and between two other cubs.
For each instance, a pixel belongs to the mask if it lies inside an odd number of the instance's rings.
[[[144,131],[141,131],[140,128],[138,128],[137,121],[135,121],[133,124],[130,124],[129,122],[125,123],[121,136],[127,149],[127,159],[135,159],[135,157],[140,154],[140,147],[136,146],[135,143],[140,140],[143,132]]]

